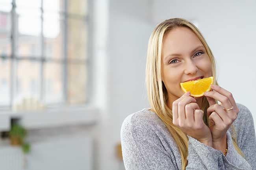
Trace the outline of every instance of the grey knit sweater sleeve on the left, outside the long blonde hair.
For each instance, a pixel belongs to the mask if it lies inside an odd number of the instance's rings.
[[[176,170],[160,139],[146,122],[128,116],[121,127],[122,156],[126,170]],[[151,129],[150,129],[151,128]]]

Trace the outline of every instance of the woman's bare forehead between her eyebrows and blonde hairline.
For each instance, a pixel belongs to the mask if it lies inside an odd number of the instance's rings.
[[[202,45],[193,31],[186,27],[177,27],[169,31],[163,39],[163,54],[191,52]]]

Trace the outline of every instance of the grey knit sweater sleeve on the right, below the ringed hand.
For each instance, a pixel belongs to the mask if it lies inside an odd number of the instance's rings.
[[[255,129],[254,121],[252,114],[249,109],[245,106],[240,105],[239,116],[241,116],[236,124],[236,128],[241,128],[241,133],[238,133],[237,142],[239,148],[245,155],[242,157],[236,151],[230,132],[227,133],[227,142],[228,142],[228,152],[226,157],[223,157],[224,164],[226,169],[256,169],[256,138],[255,138]]]

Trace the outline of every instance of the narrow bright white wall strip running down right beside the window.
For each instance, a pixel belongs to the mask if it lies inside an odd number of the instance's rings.
[[[108,36],[108,0],[93,0],[93,92],[92,102],[100,109],[99,121],[95,129],[94,169],[101,170],[108,165],[109,149],[108,139],[109,115],[107,112],[107,36]],[[111,139],[111,138],[110,138]],[[113,158],[109,160],[113,162]],[[108,168],[106,168],[108,169]]]

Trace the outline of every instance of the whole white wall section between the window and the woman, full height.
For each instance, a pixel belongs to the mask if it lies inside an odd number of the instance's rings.
[[[102,5],[104,4],[104,5]],[[96,0],[94,66],[98,122],[95,169],[121,170],[116,156],[122,121],[147,107],[145,62],[153,25],[148,0]],[[101,22],[102,21],[102,22]]]

